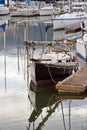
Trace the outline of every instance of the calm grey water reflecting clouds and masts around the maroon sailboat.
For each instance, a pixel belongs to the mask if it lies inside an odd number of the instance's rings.
[[[29,40],[68,37],[64,31],[53,32],[51,24],[34,20],[26,23],[16,18],[0,29],[0,130],[87,130],[87,94],[58,95],[46,86],[32,89],[26,67],[26,28]],[[86,62],[80,59],[80,66]]]

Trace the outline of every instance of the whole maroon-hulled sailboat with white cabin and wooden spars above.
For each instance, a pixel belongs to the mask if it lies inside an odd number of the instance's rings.
[[[47,35],[45,41],[28,41],[25,38],[27,67],[35,85],[56,84],[78,69],[76,56],[70,51],[70,44],[75,41],[70,43],[71,41],[60,40],[59,44],[56,41],[47,41]],[[55,46],[57,43],[59,46]]]

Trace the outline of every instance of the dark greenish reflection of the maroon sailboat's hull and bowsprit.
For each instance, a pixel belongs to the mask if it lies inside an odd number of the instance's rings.
[[[55,112],[60,101],[55,98],[57,93],[54,89],[50,87],[39,87],[38,90],[35,91],[35,89],[33,89],[34,87],[37,88],[37,86],[34,86],[33,81],[31,81],[28,97],[34,109],[28,120],[30,127],[32,123],[34,124],[36,120],[43,115],[38,126],[34,128],[35,130],[40,130],[48,118]]]

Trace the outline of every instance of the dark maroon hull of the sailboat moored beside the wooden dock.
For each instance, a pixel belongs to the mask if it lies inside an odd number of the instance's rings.
[[[31,63],[31,79],[37,85],[56,84],[72,74],[74,66]]]

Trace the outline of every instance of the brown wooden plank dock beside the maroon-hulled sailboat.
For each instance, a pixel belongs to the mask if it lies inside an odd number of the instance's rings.
[[[56,84],[55,88],[61,93],[84,93],[87,90],[87,66]]]

